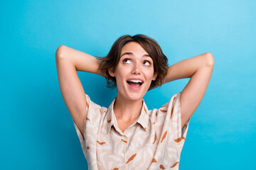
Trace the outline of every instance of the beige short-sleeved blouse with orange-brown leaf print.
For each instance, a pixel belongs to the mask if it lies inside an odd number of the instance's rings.
[[[122,132],[113,112],[115,99],[105,108],[86,95],[85,139],[73,123],[88,169],[178,169],[189,123],[181,128],[180,96],[181,92],[174,94],[168,103],[153,111],[143,100],[139,118]]]

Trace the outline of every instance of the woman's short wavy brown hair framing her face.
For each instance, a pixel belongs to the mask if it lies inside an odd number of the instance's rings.
[[[112,45],[110,52],[106,57],[97,57],[97,60],[100,62],[100,71],[107,79],[107,86],[110,88],[117,86],[115,77],[110,76],[108,69],[115,69],[117,67],[120,60],[122,47],[129,42],[137,42],[139,45],[142,45],[144,50],[149,54],[154,62],[154,74],[157,74],[157,77],[155,81],[151,82],[149,89],[152,89],[154,86],[161,86],[164,77],[166,77],[168,72],[168,59],[162,52],[161,47],[156,40],[142,34],[137,34],[134,36],[123,35],[119,37]]]

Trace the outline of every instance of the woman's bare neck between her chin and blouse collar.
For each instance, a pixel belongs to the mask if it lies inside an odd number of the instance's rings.
[[[142,98],[137,101],[130,101],[117,94],[114,101],[114,115],[118,120],[129,122],[136,120],[142,110]]]

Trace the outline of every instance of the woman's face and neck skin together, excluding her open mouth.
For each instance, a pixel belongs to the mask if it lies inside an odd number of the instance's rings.
[[[128,53],[128,54],[127,54]],[[121,50],[121,58],[110,76],[117,80],[117,99],[114,103],[114,114],[120,123],[131,123],[139,117],[142,100],[148,91],[151,81],[156,79],[154,62],[149,54],[137,42],[129,42]],[[144,81],[141,89],[129,88],[127,79],[139,78]]]

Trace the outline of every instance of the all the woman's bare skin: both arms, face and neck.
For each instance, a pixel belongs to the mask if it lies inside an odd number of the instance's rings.
[[[126,52],[124,50],[132,50],[133,55],[126,56],[132,57],[132,64],[124,64],[123,60],[120,60],[117,69],[114,72],[110,70],[112,76],[117,78],[118,93],[114,113],[117,115],[117,122],[122,131],[138,117],[142,108],[142,98],[146,94],[151,80],[157,76],[153,74],[154,68],[146,69],[142,64],[142,58],[146,60],[151,58],[142,57],[146,52],[139,45],[127,44],[127,47],[122,48],[122,52]],[[63,100],[75,124],[78,125],[81,134],[83,134],[87,101],[77,72],[90,72],[101,76],[103,74],[100,72],[95,57],[65,45],[60,45],[56,50],[55,61]],[[214,59],[210,52],[181,60],[169,67],[164,84],[176,79],[189,78],[188,84],[181,91],[181,127],[191,118],[201,103],[213,73],[213,67]],[[143,88],[137,92],[129,90],[125,80],[130,76],[144,79]],[[130,111],[129,114],[127,108]]]

